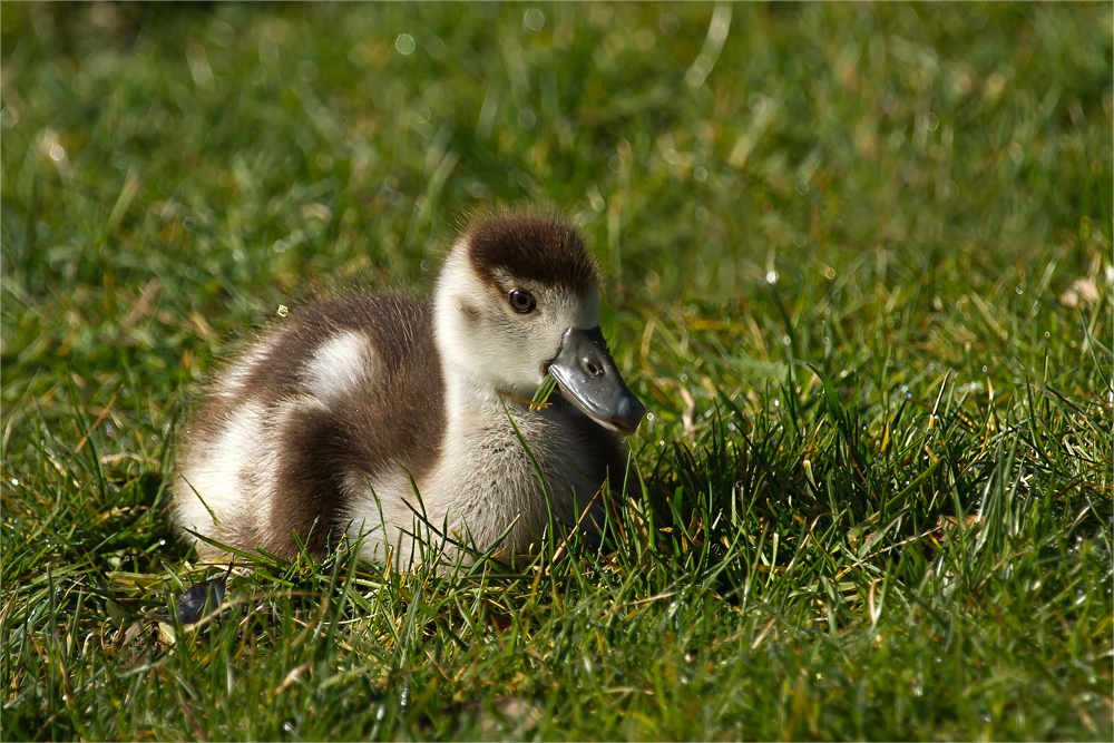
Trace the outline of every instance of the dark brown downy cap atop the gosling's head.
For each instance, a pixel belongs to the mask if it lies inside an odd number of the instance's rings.
[[[465,234],[472,268],[495,283],[495,271],[516,278],[561,286],[584,294],[599,271],[580,234],[556,217],[507,214],[472,225]]]

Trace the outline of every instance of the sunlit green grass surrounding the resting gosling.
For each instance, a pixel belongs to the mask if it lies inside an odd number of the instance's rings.
[[[3,736],[1111,740],[1111,6],[530,8],[3,3]],[[214,361],[494,202],[654,416],[605,550],[153,619]]]

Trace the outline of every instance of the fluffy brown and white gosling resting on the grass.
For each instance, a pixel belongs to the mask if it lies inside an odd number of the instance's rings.
[[[551,375],[560,394],[530,400]],[[536,551],[551,520],[598,540],[645,413],[599,327],[599,270],[547,215],[473,223],[432,302],[291,312],[214,380],[173,482],[202,557],[321,556],[348,536],[394,569]],[[540,475],[540,477],[539,477]]]

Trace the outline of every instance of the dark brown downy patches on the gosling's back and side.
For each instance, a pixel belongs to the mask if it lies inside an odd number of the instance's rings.
[[[271,348],[247,374],[243,399],[270,413],[304,398],[302,369],[338,332],[368,336],[373,372],[343,401],[328,409],[297,404],[286,418],[277,451],[272,522],[245,537],[281,555],[296,553],[293,532],[311,551],[325,551],[340,537],[348,514],[343,486],[350,472],[370,478],[401,465],[419,482],[437,462],[444,431],[444,383],[427,304],[399,296],[355,296],[292,313]],[[195,430],[213,440],[235,403],[213,395]],[[268,426],[276,426],[270,417]],[[245,472],[244,479],[253,477]],[[241,525],[241,528],[243,525]]]

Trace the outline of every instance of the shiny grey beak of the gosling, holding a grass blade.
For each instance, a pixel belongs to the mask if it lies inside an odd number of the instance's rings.
[[[615,369],[599,327],[569,327],[548,364],[565,399],[600,426],[623,436],[634,433],[646,405],[634,397]]]

